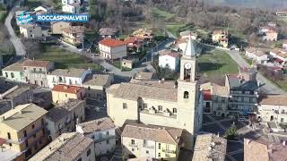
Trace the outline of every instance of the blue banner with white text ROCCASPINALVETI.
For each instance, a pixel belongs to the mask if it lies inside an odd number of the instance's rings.
[[[87,22],[89,17],[89,14],[40,14],[36,15],[36,21]]]

